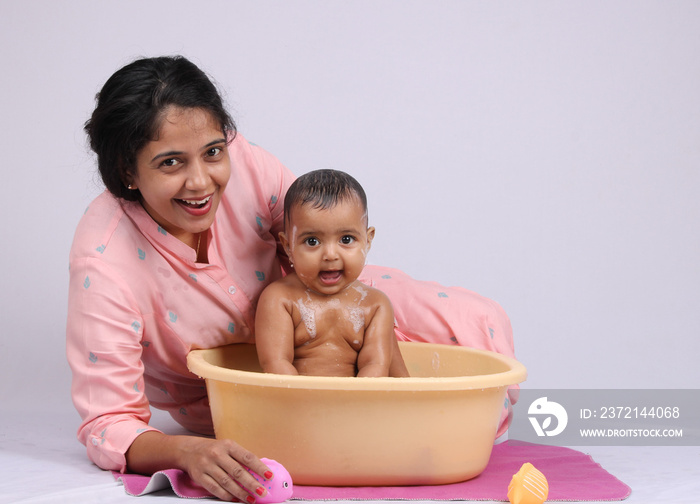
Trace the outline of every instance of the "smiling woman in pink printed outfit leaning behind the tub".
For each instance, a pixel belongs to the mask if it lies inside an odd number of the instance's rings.
[[[278,233],[294,176],[237,134],[211,81],[182,57],[137,60],[98,94],[85,125],[106,191],[88,207],[70,254],[67,353],[78,431],[98,466],[185,470],[224,500],[272,476],[230,440],[169,436],[150,406],[212,434],[193,348],[254,342],[255,303],[288,261]],[[460,288],[366,267],[391,299],[400,340],[466,344],[513,355],[494,302]],[[510,406],[504,408],[502,433]]]

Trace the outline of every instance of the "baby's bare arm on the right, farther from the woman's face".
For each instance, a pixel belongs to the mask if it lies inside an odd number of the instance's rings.
[[[381,291],[377,308],[365,329],[364,342],[357,356],[357,376],[389,376],[394,351],[394,310],[389,298]]]

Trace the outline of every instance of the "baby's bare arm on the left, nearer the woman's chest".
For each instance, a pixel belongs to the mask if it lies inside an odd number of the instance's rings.
[[[285,288],[268,285],[255,313],[255,346],[265,373],[299,374],[294,367],[294,322]]]

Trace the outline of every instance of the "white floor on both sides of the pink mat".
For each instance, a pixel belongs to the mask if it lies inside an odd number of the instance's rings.
[[[5,405],[4,409],[7,408]],[[155,425],[179,428],[158,414]],[[0,503],[181,501],[170,491],[131,497],[92,465],[75,439],[77,414],[4,411],[0,418]],[[700,447],[576,447],[632,488],[625,503],[700,502]]]

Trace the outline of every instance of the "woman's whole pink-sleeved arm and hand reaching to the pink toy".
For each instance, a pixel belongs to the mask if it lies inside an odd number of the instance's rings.
[[[236,482],[259,495],[260,485],[242,465],[262,475],[268,469],[249,451],[232,441],[168,436],[148,425],[144,319],[123,283],[98,259],[71,263],[67,354],[73,401],[83,419],[79,438],[89,458],[103,469],[122,472],[179,468],[224,500],[252,498]]]

